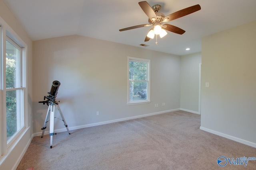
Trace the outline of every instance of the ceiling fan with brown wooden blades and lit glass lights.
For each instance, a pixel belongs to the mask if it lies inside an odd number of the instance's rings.
[[[185,31],[179,27],[176,27],[174,25],[170,24],[162,24],[164,22],[172,21],[177,18],[181,18],[183,16],[186,16],[188,14],[191,14],[193,12],[196,12],[201,9],[200,5],[194,5],[190,6],[188,8],[184,8],[183,10],[174,12],[168,16],[164,16],[164,14],[158,12],[161,9],[161,6],[156,4],[154,6],[151,6],[148,4],[146,1],[139,2],[140,7],[142,10],[145,12],[145,14],[148,16],[148,23],[149,24],[142,24],[142,25],[136,25],[132,27],[127,27],[123,29],[119,29],[119,31],[126,31],[129,29],[135,29],[135,28],[140,28],[140,27],[148,27],[153,25],[153,27],[149,30],[145,41],[149,41],[150,38],[154,39],[154,35],[156,35],[156,44],[157,44],[157,35],[160,36],[160,38],[164,37],[167,32],[166,31],[171,31],[174,33],[178,34],[183,34]]]

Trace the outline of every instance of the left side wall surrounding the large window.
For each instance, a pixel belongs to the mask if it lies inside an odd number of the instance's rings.
[[[28,82],[28,117],[25,117],[25,121],[28,121],[28,127],[26,131],[20,137],[17,144],[13,144],[0,158],[0,169],[8,170],[18,166],[19,161],[22,158],[24,149],[30,143],[32,137],[32,41],[26,34],[22,25],[16,20],[15,16],[10,12],[6,4],[0,0],[0,17],[14,30],[14,32],[24,41],[28,47],[27,49],[27,82]]]

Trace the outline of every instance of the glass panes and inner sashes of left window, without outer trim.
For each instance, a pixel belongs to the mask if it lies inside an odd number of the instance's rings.
[[[9,143],[24,127],[22,48],[6,36],[6,137]]]

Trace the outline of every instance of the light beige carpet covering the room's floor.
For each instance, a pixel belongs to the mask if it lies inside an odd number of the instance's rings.
[[[219,156],[255,157],[256,148],[202,131],[200,115],[186,111],[34,137],[17,170],[256,170],[220,167]],[[15,162],[15,161],[14,161]]]

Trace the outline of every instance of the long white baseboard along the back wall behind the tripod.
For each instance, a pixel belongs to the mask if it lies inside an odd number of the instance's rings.
[[[149,113],[149,114],[145,114],[145,115],[138,115],[138,116],[126,117],[126,118],[122,118],[122,119],[114,119],[114,120],[102,121],[102,122],[98,122],[98,123],[91,123],[91,124],[86,124],[86,125],[68,127],[68,129],[69,129],[70,131],[72,131],[72,130],[82,129],[82,128],[86,128],[86,127],[92,127],[92,126],[98,126],[98,125],[105,125],[105,124],[108,124],[108,123],[115,123],[115,122],[119,122],[119,121],[130,120],[130,119],[137,119],[137,118],[140,118],[140,117],[147,117],[147,116],[152,116],[152,115],[158,115],[158,114],[168,113],[168,112],[178,111],[178,110],[180,110],[180,109],[172,109],[172,110],[160,111],[160,112],[155,112],[155,113]],[[64,131],[67,131],[67,129],[66,129],[66,128],[54,129],[54,133],[60,133],[60,132],[64,132]],[[49,134],[49,131],[45,131],[44,134],[45,134],[45,135],[48,135],[48,134]],[[40,135],[42,135],[42,132],[38,132],[38,133],[34,133],[34,134],[33,134],[33,136],[40,136]]]

